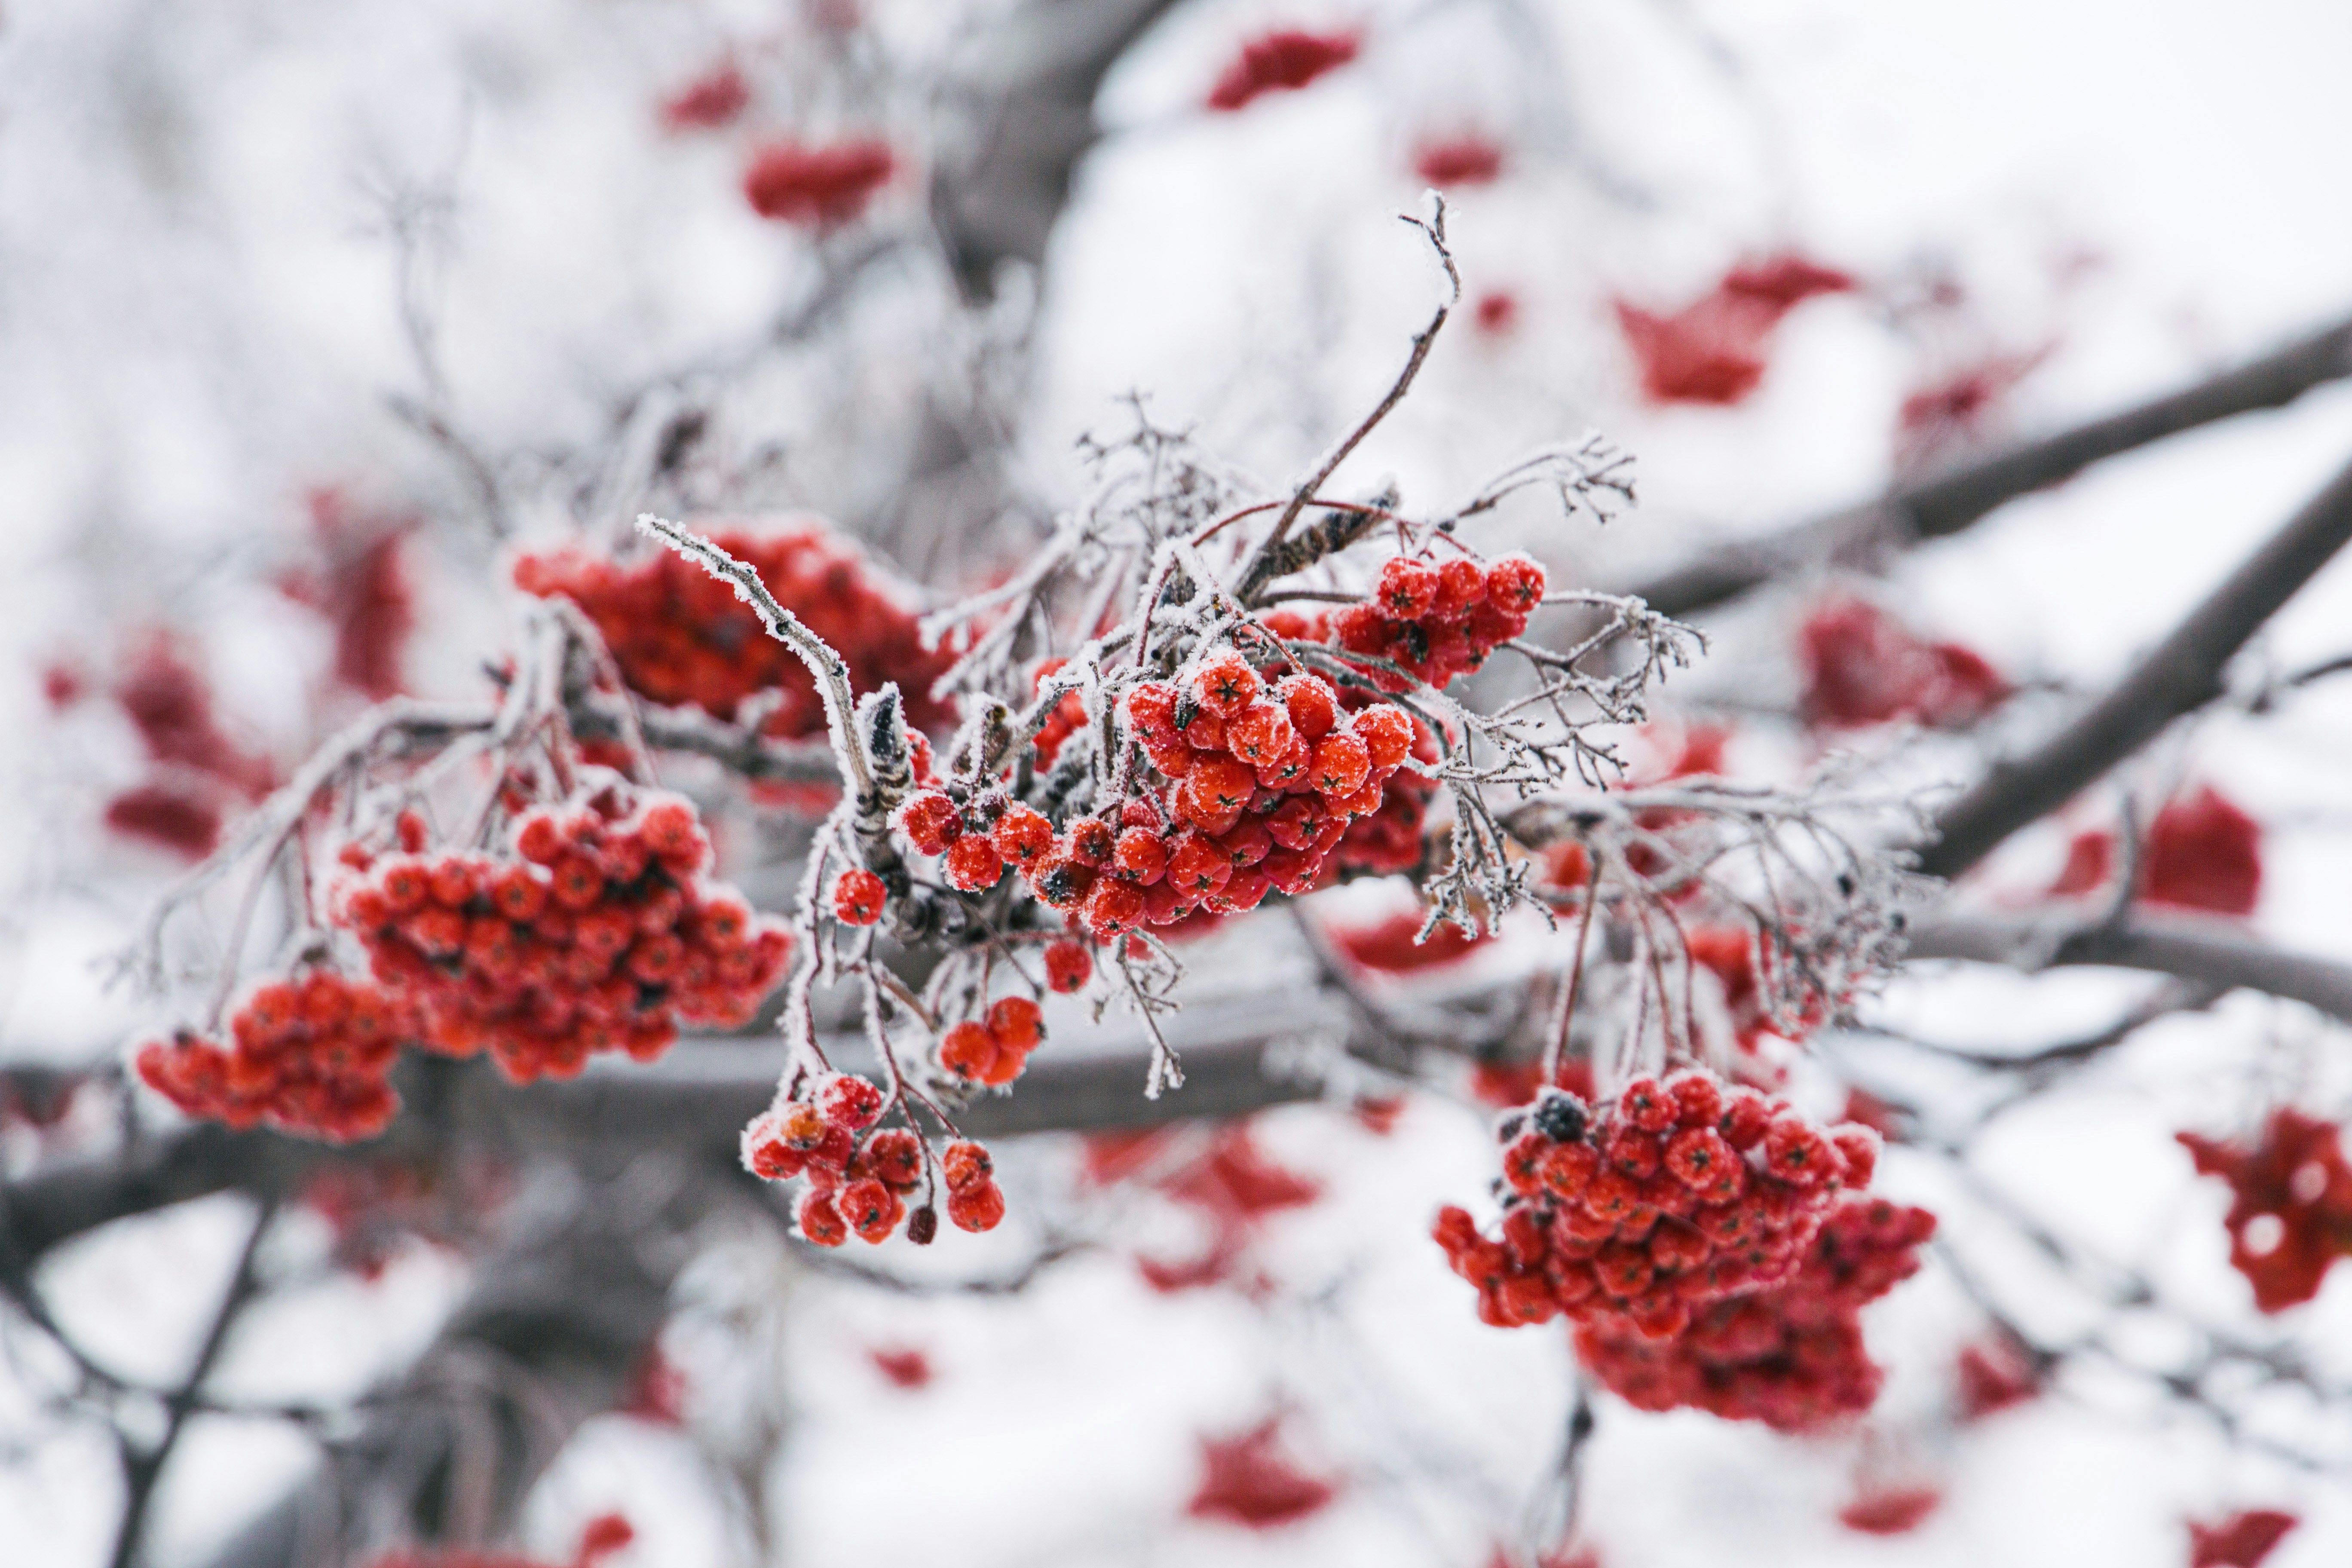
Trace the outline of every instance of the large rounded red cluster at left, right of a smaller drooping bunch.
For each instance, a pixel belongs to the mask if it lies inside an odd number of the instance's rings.
[[[619,780],[529,811],[508,853],[350,856],[334,919],[414,999],[423,1044],[487,1048],[515,1081],[597,1051],[661,1056],[680,1023],[734,1027],[783,978],[790,936],[708,884],[694,806]]]

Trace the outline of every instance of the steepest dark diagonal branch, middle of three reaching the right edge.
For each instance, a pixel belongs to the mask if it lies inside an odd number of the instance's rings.
[[[2185,712],[2223,691],[2223,670],[2281,604],[2352,541],[2352,465],[2296,512],[2086,715],[2016,762],[1994,764],[1936,818],[1919,867],[1957,877],[2018,827],[2072,799]]]

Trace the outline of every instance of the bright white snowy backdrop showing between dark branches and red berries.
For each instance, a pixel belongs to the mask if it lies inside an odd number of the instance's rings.
[[[287,755],[308,738],[301,696],[315,679],[287,649],[310,637],[315,661],[325,642],[254,585],[254,562],[292,550],[306,487],[456,494],[442,458],[381,407],[386,390],[419,386],[386,193],[452,195],[428,214],[423,287],[468,428],[496,449],[593,440],[614,388],[750,339],[807,287],[807,240],[741,200],[741,141],[670,139],[654,120],[661,94],[727,40],[776,33],[781,9],[0,9],[9,1060],[89,1060],[155,1023],[101,990],[94,959],[169,870],[103,844],[96,802],[125,778],[134,741],[101,722],[59,726],[40,668],[75,649],[103,658],[125,628],[174,614],[202,628],[235,719]],[[870,9],[901,56],[922,61],[950,56],[962,26],[1002,7]],[[1362,61],[1242,115],[1197,113],[1235,40],[1296,21],[1367,26]],[[1599,425],[1639,458],[1642,512],[1609,536],[1526,512],[1526,543],[1555,564],[1665,559],[1693,538],[1882,484],[1917,362],[1865,301],[1832,296],[1788,320],[1750,404],[1651,411],[1632,397],[1611,296],[1675,306],[1778,244],[1872,280],[1940,266],[1980,301],[1987,348],[2058,343],[2002,414],[2011,430],[2056,428],[2352,308],[2347,73],[2352,7],[2338,0],[1185,5],[1105,87],[1110,139],[1080,172],[1040,301],[1025,477],[1068,496],[1073,437],[1115,423],[1110,400],[1127,390],[1148,393],[1167,421],[1197,421],[1268,477],[1317,451],[1385,383],[1430,303],[1428,254],[1392,216],[1418,202],[1411,141],[1477,125],[1515,148],[1512,165],[1454,202],[1454,235],[1468,287],[1512,289],[1522,324],[1494,341],[1456,327],[1416,400],[1350,473],[1367,487],[1395,473],[1409,498],[1435,503],[1534,440]],[[769,113],[821,127],[833,110],[816,92]],[[873,221],[917,223],[920,181],[903,176]],[[908,280],[903,306],[856,336],[858,353],[779,376],[776,433],[821,430],[833,407],[901,418],[929,355],[950,353],[927,299],[924,280]],[[750,444],[760,433],[731,435]],[[1917,550],[1893,602],[2011,672],[2096,686],[2347,451],[2352,388],[2321,390]],[[826,463],[816,440],[790,451],[795,494],[854,503],[856,475]],[[494,642],[492,569],[463,545],[435,559],[428,614],[473,630],[416,649],[421,686],[461,679]],[[1785,682],[1776,625],[1757,611],[1729,623],[1691,691]],[[2352,574],[2338,567],[2253,658],[2286,668],[2333,656],[2347,628]],[[2169,741],[2157,766],[2220,783],[2270,825],[2256,917],[2267,936],[2352,959],[2343,693],[2321,689],[2263,724],[2204,722]],[[2034,886],[2060,846],[2056,832],[2020,839],[1992,879]],[[1202,954],[1197,969],[1214,973],[1216,959]],[[2084,973],[1919,976],[1882,1009],[1936,1039],[2037,1041],[2096,1027],[2133,990]],[[2352,1103],[2340,1030],[2237,997],[2145,1032],[2013,1112],[1978,1173],[2147,1269],[2199,1319],[2291,1335],[2343,1378],[2352,1279],[2338,1269],[2310,1307],[2258,1319],[2223,1267],[2225,1194],[2194,1182],[2171,1143],[2178,1126],[2249,1124],[2258,1103],[2241,1065],[2256,1051],[2274,1063],[2267,1088],[2331,1112]],[[1486,1563],[1555,1460],[1571,1366],[1552,1331],[1477,1326],[1468,1291],[1425,1241],[1437,1204],[1484,1190],[1482,1114],[1421,1095],[1388,1138],[1327,1110],[1268,1114],[1261,1133],[1327,1182],[1324,1201],[1275,1220],[1265,1258],[1308,1293],[1345,1279],[1331,1312],[1261,1314],[1218,1291],[1155,1295],[1117,1255],[1058,1265],[997,1300],[786,1276],[757,1246],[715,1248],[689,1281],[675,1349],[708,1387],[786,1382],[783,1559]],[[24,1145],[0,1154],[9,1171],[33,1157]],[[1016,1211],[1061,1201],[1073,1161],[1058,1140],[1011,1150]],[[1957,1246],[1999,1248],[1983,1211],[1929,1161],[1896,1154],[1884,1182],[1938,1208]],[[92,1356],[169,1380],[242,1227],[230,1199],[134,1220],[73,1248],[45,1284]],[[1021,1260],[1023,1237],[1018,1225],[957,1237],[934,1248],[953,1258],[922,1265],[985,1276]],[[915,1267],[901,1248],[880,1258]],[[2002,1267],[2034,1300],[2034,1265]],[[414,1354],[461,1288],[463,1265],[430,1248],[376,1284],[332,1276],[249,1321],[216,1389],[252,1401],[353,1394]],[[696,1361],[696,1312],[746,1305],[774,1314],[774,1361]],[[2079,1312],[2056,1284],[2039,1305],[2051,1333]],[[1875,1540],[1837,1523],[1851,1446],[1604,1401],[1585,1540],[1611,1568],[2143,1568],[2185,1561],[2183,1516],[2279,1505],[2305,1521],[2277,1568],[2352,1559],[2343,1472],[2232,1450],[2126,1378],[2067,1378],[1952,1436],[1938,1410],[1952,1345],[1976,1319],[1936,1267],[1870,1324],[1893,1368],[1879,1410],[1889,1453],[1945,1488],[1919,1530]],[[2133,1333],[2152,1331],[2124,1326]],[[889,1387],[866,1359],[877,1345],[922,1347],[936,1382]],[[1244,1429],[1277,1403],[1298,1410],[1301,1453],[1350,1476],[1343,1500],[1270,1535],[1183,1519],[1197,1434]],[[2305,1432],[2286,1403],[2281,1429]],[[0,1366],[0,1429],[26,1415]],[[2321,1441],[2347,1453],[2340,1432]],[[306,1453],[275,1427],[198,1422],[165,1483],[160,1561],[200,1561]],[[0,1559],[103,1561],[115,1481],[99,1436],[5,1458]],[[609,1507],[640,1528],[614,1568],[736,1561],[675,1436],[593,1425],[534,1500],[532,1540],[567,1556],[579,1523]]]

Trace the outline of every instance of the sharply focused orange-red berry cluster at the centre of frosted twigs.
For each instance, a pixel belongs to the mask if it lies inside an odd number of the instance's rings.
[[[1011,867],[1037,903],[1108,943],[1317,886],[1348,825],[1381,811],[1416,743],[1402,708],[1350,715],[1322,677],[1268,684],[1232,651],[1183,684],[1136,686],[1122,708],[1167,785],[1124,802],[1115,820],[1089,816],[1056,832],[1042,811],[1002,795],[957,804],[920,790],[898,809],[898,830],[917,853],[943,858],[950,886],[978,893]],[[1065,957],[1063,973],[1073,971]]]

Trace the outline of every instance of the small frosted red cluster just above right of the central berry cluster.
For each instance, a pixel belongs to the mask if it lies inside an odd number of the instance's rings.
[[[1411,679],[1444,686],[1524,632],[1543,588],[1543,567],[1524,555],[1442,567],[1397,555],[1381,567],[1371,599],[1334,614],[1327,630],[1343,654],[1385,658]],[[1411,684],[1388,670],[1367,675],[1390,691]]]

